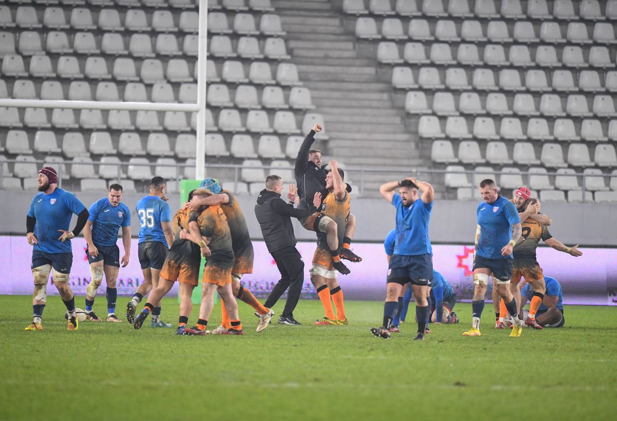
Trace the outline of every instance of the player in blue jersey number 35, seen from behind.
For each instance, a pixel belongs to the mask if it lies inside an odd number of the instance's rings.
[[[154,177],[150,181],[150,194],[136,204],[139,218],[139,264],[144,274],[144,283],[139,285],[131,301],[126,304],[126,320],[135,322],[135,310],[141,299],[159,285],[160,270],[173,243],[172,209],[167,203],[167,181]],[[150,327],[172,327],[160,321],[160,301],[154,303]]]

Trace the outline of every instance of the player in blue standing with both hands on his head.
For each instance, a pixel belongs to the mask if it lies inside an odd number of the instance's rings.
[[[399,188],[398,194],[394,193],[396,188]],[[418,190],[422,191],[421,196]],[[379,193],[396,207],[396,236],[386,280],[383,324],[379,328],[371,328],[371,333],[384,339],[390,337],[389,329],[398,312],[399,297],[404,287],[411,283],[418,320],[418,333],[414,340],[423,340],[431,311],[426,299],[433,277],[433,249],[428,237],[428,223],[435,192],[429,183],[406,178],[382,185]]]

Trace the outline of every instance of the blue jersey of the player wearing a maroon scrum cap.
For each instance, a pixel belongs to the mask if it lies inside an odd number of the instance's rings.
[[[38,244],[34,249],[45,253],[70,253],[70,240],[64,243],[58,238],[68,231],[73,214],[79,215],[86,209],[75,194],[56,188],[53,193],[38,193],[32,199],[28,216],[36,219],[35,236]]]

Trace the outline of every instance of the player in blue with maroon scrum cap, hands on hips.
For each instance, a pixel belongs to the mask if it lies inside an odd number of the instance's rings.
[[[43,330],[41,319],[47,301],[49,273],[67,307],[67,330],[77,330],[75,296],[68,285],[68,274],[73,264],[71,239],[79,235],[88,220],[88,209],[75,194],[62,190],[57,184],[56,170],[39,170],[38,191],[32,199],[26,217],[26,236],[33,247],[31,269],[35,281],[32,295],[33,320],[25,330]],[[78,215],[73,231],[68,231],[72,215]]]

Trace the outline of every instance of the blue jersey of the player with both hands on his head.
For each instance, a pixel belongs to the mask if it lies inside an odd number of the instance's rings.
[[[412,206],[405,207],[400,194],[394,193],[392,204],[396,207],[394,254],[399,256],[432,255],[433,248],[428,238],[428,223],[431,219],[433,202],[424,203],[422,199],[418,199],[412,203]]]

